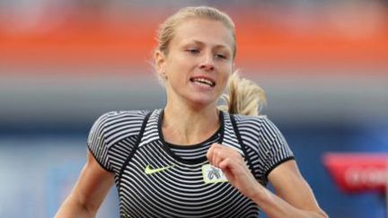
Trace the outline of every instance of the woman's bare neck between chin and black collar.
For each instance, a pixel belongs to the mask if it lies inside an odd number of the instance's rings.
[[[172,144],[198,144],[220,126],[216,105],[192,109],[184,104],[167,104],[162,124],[163,137]]]

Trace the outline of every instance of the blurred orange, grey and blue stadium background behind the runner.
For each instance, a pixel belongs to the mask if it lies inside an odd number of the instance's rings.
[[[52,217],[102,113],[156,109],[154,33],[187,5],[236,23],[236,65],[331,217],[384,217],[382,192],[346,193],[325,153],[388,153],[388,2],[0,0],[0,217]],[[118,217],[115,191],[98,217]]]

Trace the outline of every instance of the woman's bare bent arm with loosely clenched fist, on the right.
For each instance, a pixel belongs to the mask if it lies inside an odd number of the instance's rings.
[[[286,161],[269,173],[276,195],[252,175],[240,153],[213,144],[207,160],[225,173],[229,182],[244,196],[260,205],[269,217],[328,217],[313,196],[313,191],[297,169],[295,161]]]

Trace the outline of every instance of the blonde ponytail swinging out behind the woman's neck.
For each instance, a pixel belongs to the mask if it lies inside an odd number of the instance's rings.
[[[229,78],[227,90],[229,93],[222,96],[226,105],[221,105],[218,109],[231,114],[257,116],[267,103],[264,90],[251,80],[242,78],[237,72]]]

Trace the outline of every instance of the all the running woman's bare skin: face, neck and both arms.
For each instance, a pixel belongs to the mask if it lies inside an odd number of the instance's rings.
[[[234,70],[232,31],[222,22],[189,19],[178,25],[168,51],[156,51],[156,70],[165,80],[167,103],[162,132],[172,144],[198,144],[220,126],[216,100]],[[205,78],[215,85],[193,81]],[[295,161],[286,161],[269,173],[276,194],[251,175],[240,153],[212,144],[207,160],[224,171],[244,196],[251,198],[269,217],[327,217],[317,204]],[[112,173],[88,153],[88,159],[70,196],[56,217],[94,217],[113,185]]]

